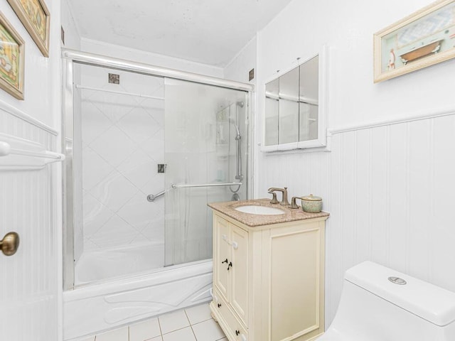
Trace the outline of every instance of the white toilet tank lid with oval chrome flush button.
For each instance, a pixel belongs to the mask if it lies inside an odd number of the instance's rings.
[[[406,284],[392,283],[390,277],[402,278]],[[439,286],[372,261],[348,269],[344,278],[435,325],[442,327],[455,321],[455,293]]]

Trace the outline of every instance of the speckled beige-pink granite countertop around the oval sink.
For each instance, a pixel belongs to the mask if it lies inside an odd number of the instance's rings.
[[[228,201],[228,202],[210,202],[207,204],[208,207],[217,210],[228,217],[231,217],[242,224],[250,227],[262,226],[268,224],[278,224],[280,222],[294,222],[296,220],[306,220],[319,217],[328,217],[328,212],[319,213],[307,213],[298,209],[289,208],[289,206],[282,206],[279,204],[271,204],[270,199],[254,199],[254,200],[240,200],[240,201]],[[250,213],[243,213],[235,210],[235,207],[245,205],[259,205],[266,207],[279,208],[284,211],[284,215],[253,215]]]

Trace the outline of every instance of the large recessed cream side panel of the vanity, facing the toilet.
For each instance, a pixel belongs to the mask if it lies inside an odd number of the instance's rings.
[[[305,335],[309,340],[323,332],[323,274],[319,224],[296,223],[271,229],[264,264],[269,283],[270,338]]]

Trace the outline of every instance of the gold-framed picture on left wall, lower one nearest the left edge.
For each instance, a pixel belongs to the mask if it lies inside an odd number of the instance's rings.
[[[0,12],[0,88],[23,99],[24,41]]]

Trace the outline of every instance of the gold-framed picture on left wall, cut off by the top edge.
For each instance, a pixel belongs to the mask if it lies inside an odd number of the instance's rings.
[[[49,57],[50,13],[43,0],[7,0],[41,53]]]

